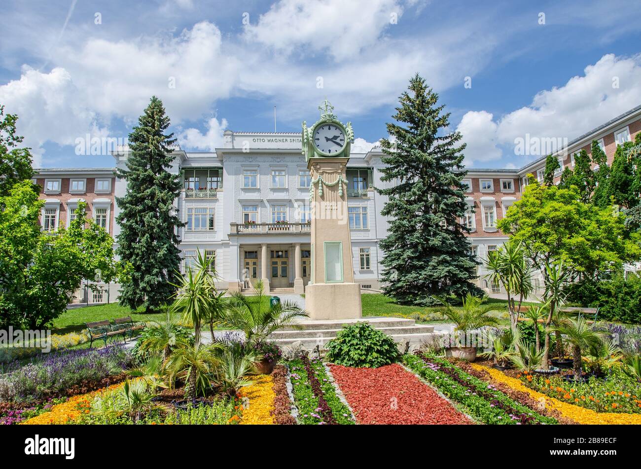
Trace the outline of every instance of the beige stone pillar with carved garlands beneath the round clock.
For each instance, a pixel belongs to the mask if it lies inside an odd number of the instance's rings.
[[[312,180],[313,284],[305,288],[305,309],[312,320],[361,318],[360,284],[354,283],[351,237],[347,220],[349,158],[310,158]],[[326,268],[328,270],[326,272]]]

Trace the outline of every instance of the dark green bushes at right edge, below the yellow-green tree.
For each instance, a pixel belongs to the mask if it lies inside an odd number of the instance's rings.
[[[617,273],[611,279],[583,281],[569,286],[568,301],[599,308],[599,319],[641,324],[641,278]]]

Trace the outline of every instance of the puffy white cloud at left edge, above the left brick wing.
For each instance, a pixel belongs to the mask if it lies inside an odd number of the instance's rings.
[[[24,135],[24,145],[33,149],[35,167],[42,164],[42,145],[47,140],[72,145],[87,133],[107,133],[85,105],[71,74],[62,68],[42,73],[25,65],[20,79],[0,86],[0,103],[6,113],[18,115],[19,134]]]

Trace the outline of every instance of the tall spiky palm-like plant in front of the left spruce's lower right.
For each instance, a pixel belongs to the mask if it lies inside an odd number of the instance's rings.
[[[207,258],[197,251],[194,268],[187,268],[184,275],[178,276],[180,281],[173,284],[176,287],[176,301],[172,309],[179,313],[183,320],[194,324],[194,341],[200,343],[201,323],[212,318],[212,298],[217,298],[212,274],[210,272],[213,259]],[[213,327],[212,327],[213,332]],[[213,340],[213,334],[212,334]]]

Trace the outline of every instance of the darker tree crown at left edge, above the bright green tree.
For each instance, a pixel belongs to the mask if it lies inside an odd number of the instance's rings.
[[[4,117],[3,117],[4,116]],[[15,183],[31,179],[31,152],[29,148],[19,148],[23,137],[15,135],[17,115],[4,115],[0,104],[0,197],[9,195]]]

